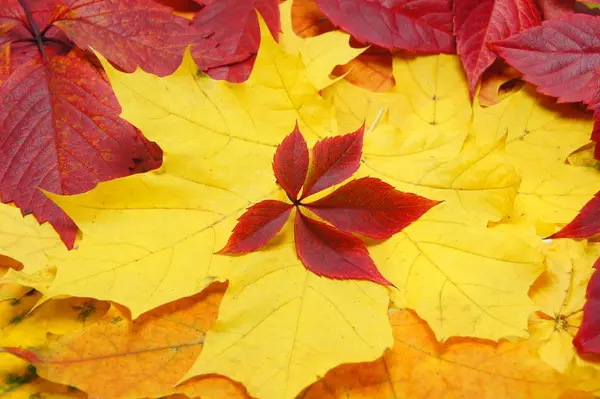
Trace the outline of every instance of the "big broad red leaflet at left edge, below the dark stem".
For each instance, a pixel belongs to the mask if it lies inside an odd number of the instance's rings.
[[[40,190],[77,194],[129,174],[136,130],[80,51],[24,65],[0,87],[0,193],[49,221],[71,248],[77,227]]]

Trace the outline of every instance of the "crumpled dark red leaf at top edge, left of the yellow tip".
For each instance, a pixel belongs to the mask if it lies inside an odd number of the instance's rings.
[[[213,79],[243,82],[250,76],[260,44],[256,11],[279,39],[279,0],[196,0],[204,6],[192,25],[192,57]]]

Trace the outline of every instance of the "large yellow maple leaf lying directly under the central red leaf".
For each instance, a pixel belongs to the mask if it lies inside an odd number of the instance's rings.
[[[57,276],[47,295],[112,300],[136,319],[229,279],[214,332],[186,378],[220,373],[251,395],[286,399],[337,364],[380,356],[391,345],[389,298],[373,283],[309,273],[288,229],[255,254],[214,254],[245,208],[286,198],[271,162],[296,120],[311,144],[335,133],[333,107],[302,61],[269,36],[261,43],[252,76],[237,85],[199,75],[189,57],[166,78],[105,63],[123,116],[165,160],[158,171],[51,196],[84,238],[76,251],[51,257]]]

